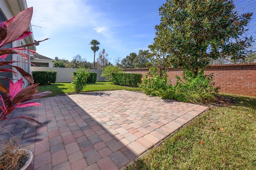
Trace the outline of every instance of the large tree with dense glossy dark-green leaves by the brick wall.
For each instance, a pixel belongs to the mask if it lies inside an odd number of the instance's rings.
[[[197,75],[211,59],[243,59],[252,37],[240,39],[252,13],[239,15],[232,0],[167,0],[159,8],[151,51],[158,51],[173,67]]]

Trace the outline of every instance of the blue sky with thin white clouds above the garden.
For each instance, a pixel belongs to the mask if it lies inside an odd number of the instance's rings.
[[[105,49],[111,62],[132,52],[148,49],[160,23],[158,9],[166,0],[26,0],[33,6],[31,24],[36,46],[41,55],[68,59],[80,54],[93,62],[90,41],[100,42],[98,53]],[[245,12],[255,10],[256,0],[236,0]],[[241,10],[240,10],[241,11]],[[251,33],[255,33],[255,17]],[[40,26],[40,27],[38,27]]]

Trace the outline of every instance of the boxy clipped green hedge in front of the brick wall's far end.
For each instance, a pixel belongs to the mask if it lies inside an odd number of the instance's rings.
[[[125,85],[138,87],[141,83],[142,75],[135,73],[112,73],[112,80],[115,85]]]

